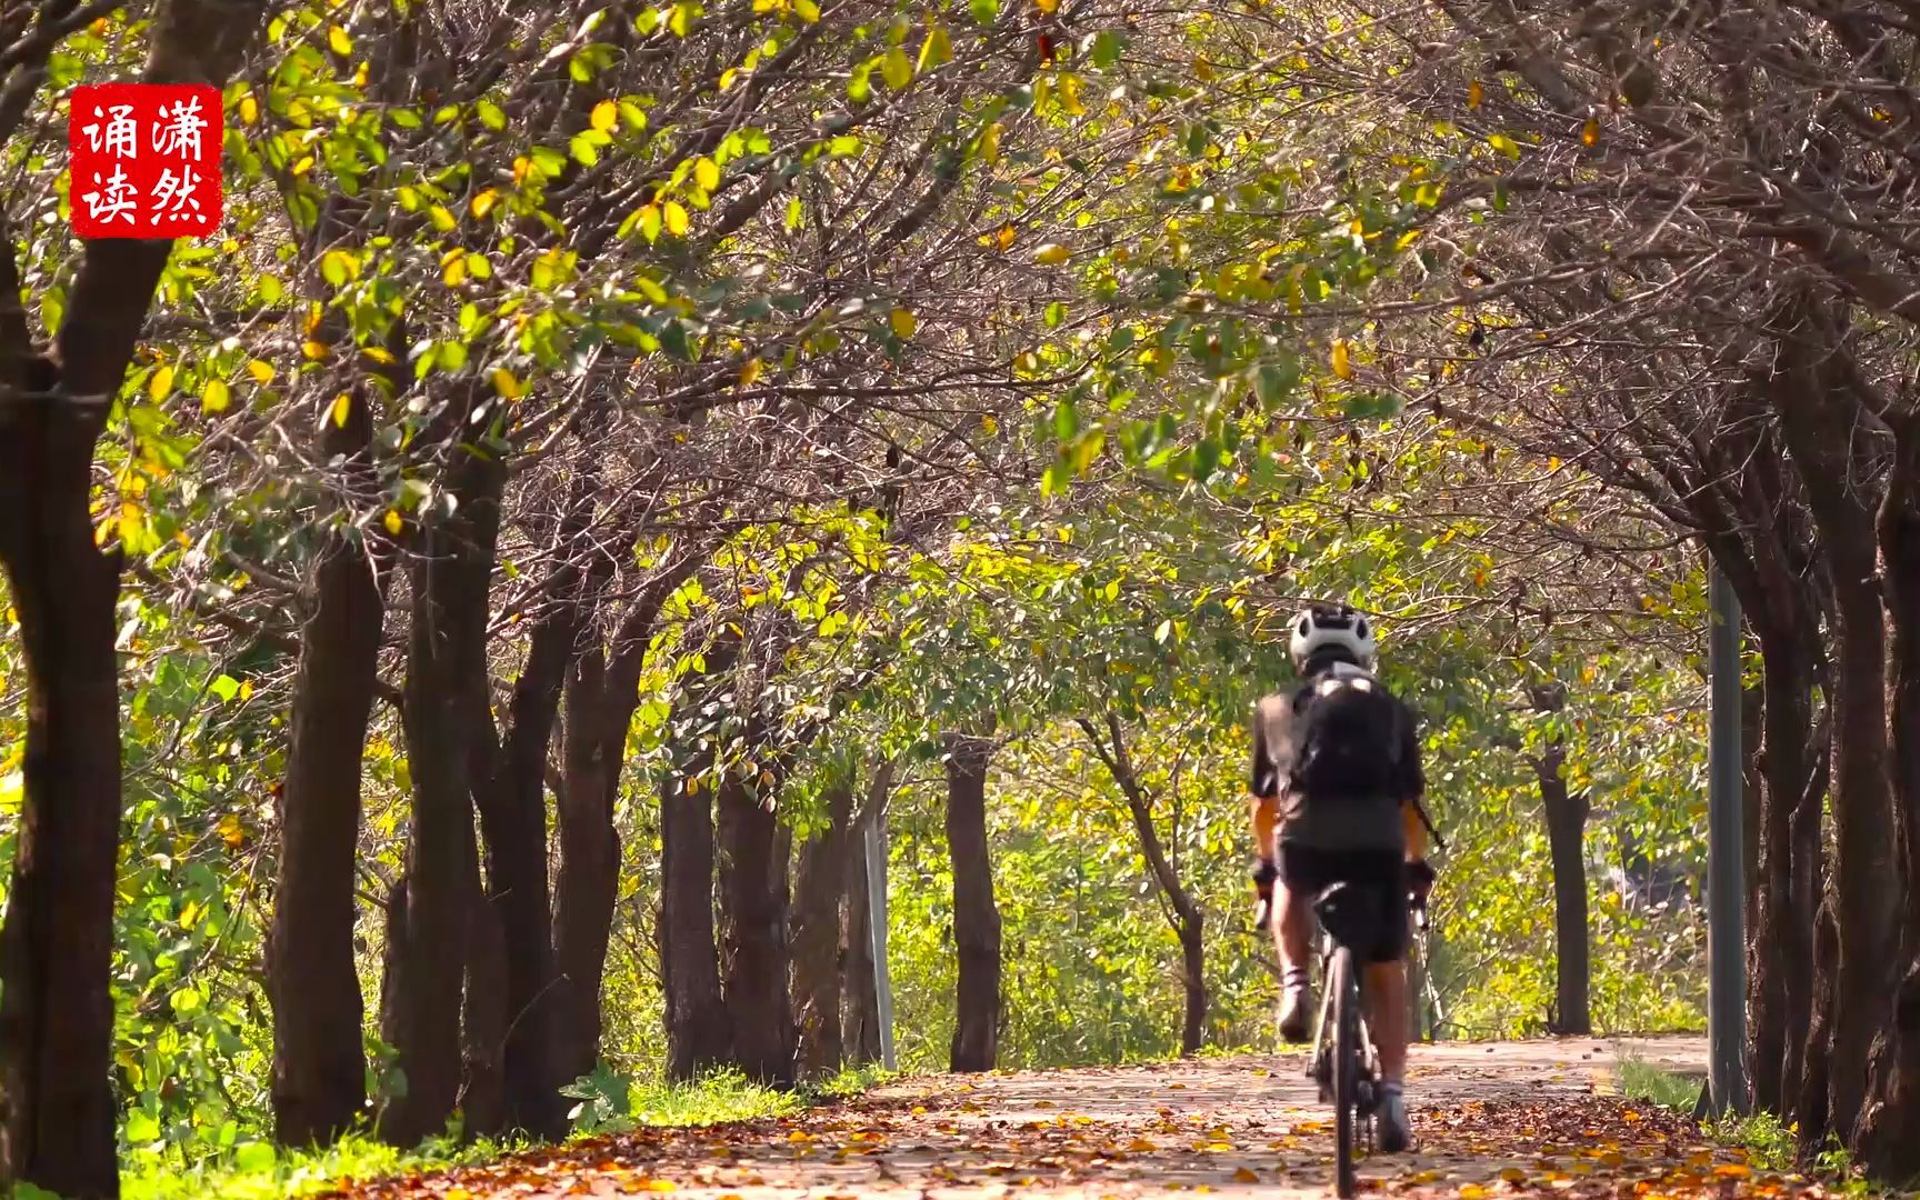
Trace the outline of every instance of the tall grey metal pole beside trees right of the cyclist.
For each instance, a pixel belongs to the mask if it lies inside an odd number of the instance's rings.
[[[1707,672],[1707,1089],[1716,1114],[1747,1110],[1745,780],[1740,753],[1740,597],[1709,566]]]

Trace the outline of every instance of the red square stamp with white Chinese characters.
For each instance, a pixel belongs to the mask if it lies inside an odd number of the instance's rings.
[[[73,232],[205,238],[221,223],[221,92],[207,84],[73,88],[67,115]]]

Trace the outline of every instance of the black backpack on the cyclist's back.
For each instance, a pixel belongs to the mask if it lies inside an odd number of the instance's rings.
[[[1369,674],[1340,672],[1294,697],[1292,789],[1309,799],[1394,799],[1405,766],[1407,710]]]

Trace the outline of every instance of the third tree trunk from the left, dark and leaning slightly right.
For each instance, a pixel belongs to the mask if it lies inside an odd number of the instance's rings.
[[[488,588],[499,536],[505,463],[455,445],[451,516],[422,528],[407,645],[407,766],[413,826],[401,883],[403,920],[390,931],[382,1037],[399,1054],[405,1094],[380,1119],[380,1137],[413,1146],[440,1133],[461,1091],[461,981],[468,881],[476,860],[472,812],[474,714],[486,699]]]

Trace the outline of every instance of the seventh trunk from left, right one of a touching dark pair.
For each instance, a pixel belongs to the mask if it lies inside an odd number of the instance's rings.
[[[749,755],[762,753],[760,720],[749,720]],[[753,770],[760,770],[753,764]],[[787,993],[787,854],[774,814],[774,772],[720,774],[718,851],[720,995],[733,1029],[732,1062],[762,1083],[793,1083],[793,1010]]]

